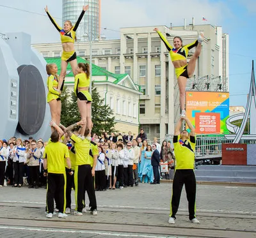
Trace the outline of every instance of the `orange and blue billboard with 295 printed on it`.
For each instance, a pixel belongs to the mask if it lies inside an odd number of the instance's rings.
[[[198,134],[228,133],[229,93],[187,91],[186,115]]]

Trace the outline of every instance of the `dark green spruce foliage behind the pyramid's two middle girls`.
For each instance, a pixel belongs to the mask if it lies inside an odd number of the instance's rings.
[[[69,91],[67,86],[61,93],[61,124],[69,126],[81,120],[77,107],[77,98],[74,92]],[[104,99],[100,97],[96,87],[92,88],[92,122],[93,133],[100,135],[106,131],[114,131],[115,117],[109,105],[105,105]]]

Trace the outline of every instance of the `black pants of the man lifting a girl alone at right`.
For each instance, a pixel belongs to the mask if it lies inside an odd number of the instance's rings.
[[[195,203],[196,203],[196,178],[194,170],[176,170],[172,183],[172,199],[170,216],[175,218],[180,204],[180,195],[183,184],[185,184],[189,219],[195,218]]]

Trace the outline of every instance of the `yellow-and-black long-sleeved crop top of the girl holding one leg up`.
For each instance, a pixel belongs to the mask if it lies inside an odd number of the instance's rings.
[[[164,41],[164,45],[170,52],[172,61],[179,61],[180,59],[187,59],[189,50],[193,47],[196,47],[196,45],[198,44],[198,40],[195,40],[188,45],[184,45],[183,47],[180,47],[179,49],[173,48],[172,45],[170,45],[170,43],[163,36],[161,31],[157,31],[157,33],[159,34],[161,40]]]

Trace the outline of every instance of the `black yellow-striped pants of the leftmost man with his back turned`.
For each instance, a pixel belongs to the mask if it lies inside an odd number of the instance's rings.
[[[53,213],[54,211],[54,199],[56,202],[56,208],[59,212],[65,212],[66,207],[66,180],[65,174],[48,174],[47,177],[47,212]]]

